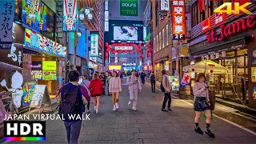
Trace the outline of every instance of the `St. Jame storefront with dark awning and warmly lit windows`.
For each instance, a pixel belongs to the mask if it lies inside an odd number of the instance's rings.
[[[253,11],[255,6],[250,6],[249,9]],[[207,26],[202,26],[201,23],[192,29],[190,61],[197,63],[210,60],[216,65],[206,63],[207,66],[223,66],[226,69],[225,74],[216,74],[218,71],[215,73],[214,70],[206,74],[210,86],[214,87],[216,96],[234,102],[242,100],[256,107],[255,104],[251,104],[255,102],[252,101],[253,95],[248,87],[251,67],[248,62],[250,61],[248,52],[250,47],[254,46],[255,15],[224,15],[223,21],[216,25],[214,23],[217,22],[215,19],[218,17],[219,15],[213,15],[209,18],[209,22],[202,22]],[[203,30],[203,27],[210,27],[210,29]],[[191,78],[196,78],[196,75],[197,73],[191,74]]]

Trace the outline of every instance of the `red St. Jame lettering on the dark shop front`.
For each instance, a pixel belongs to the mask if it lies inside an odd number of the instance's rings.
[[[206,33],[206,43],[222,41],[223,38],[229,37],[230,35],[233,35],[233,34],[238,34],[248,29],[254,29],[255,26],[256,26],[255,16],[250,15],[248,18],[243,18],[230,25],[219,26],[221,29],[221,34],[218,38],[216,37],[216,33],[214,30],[208,31]]]

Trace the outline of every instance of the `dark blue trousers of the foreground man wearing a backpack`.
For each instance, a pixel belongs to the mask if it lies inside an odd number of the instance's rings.
[[[70,144],[77,144],[82,126],[82,121],[72,122],[70,125]]]

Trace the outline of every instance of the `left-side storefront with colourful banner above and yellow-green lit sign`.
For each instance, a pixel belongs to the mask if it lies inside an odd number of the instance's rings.
[[[34,82],[46,85],[50,96],[54,97],[65,82],[66,47],[32,30],[25,29],[23,50],[24,86],[26,89],[32,89]],[[30,97],[29,94],[24,94],[24,97]],[[26,104],[29,104],[30,98],[26,99],[28,99]]]

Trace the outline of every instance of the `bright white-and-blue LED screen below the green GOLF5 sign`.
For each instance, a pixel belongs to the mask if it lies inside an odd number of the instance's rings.
[[[138,27],[114,26],[114,40],[138,40]]]

